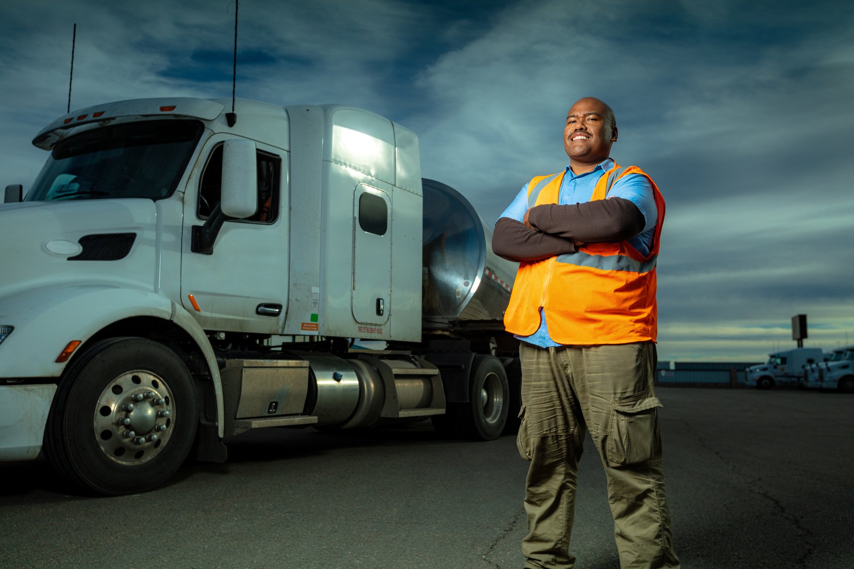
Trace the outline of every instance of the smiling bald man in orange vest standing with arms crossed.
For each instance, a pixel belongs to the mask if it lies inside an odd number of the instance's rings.
[[[570,165],[533,178],[495,224],[494,253],[520,262],[505,326],[522,340],[528,569],[575,566],[569,541],[587,431],[605,467],[623,569],[679,567],[653,390],[664,200],[640,168],[609,158],[614,142],[611,107],[576,102],[564,127]]]

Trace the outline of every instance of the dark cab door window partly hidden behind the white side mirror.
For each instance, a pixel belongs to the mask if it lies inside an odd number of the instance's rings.
[[[222,144],[213,148],[205,165],[202,182],[199,183],[197,213],[199,218],[207,219],[219,204],[222,195]],[[258,211],[252,217],[240,221],[252,221],[260,224],[272,224],[278,218],[279,177],[282,159],[275,154],[258,151]]]

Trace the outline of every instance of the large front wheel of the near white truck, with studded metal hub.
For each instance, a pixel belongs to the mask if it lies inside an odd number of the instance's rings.
[[[148,491],[184,462],[197,423],[190,371],[172,350],[143,338],[102,340],[62,376],[45,456],[99,494]]]

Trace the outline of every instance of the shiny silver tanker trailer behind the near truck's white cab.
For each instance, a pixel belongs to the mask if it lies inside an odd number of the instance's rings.
[[[492,253],[492,228],[457,190],[422,179],[424,328],[459,320],[500,320],[517,263]]]

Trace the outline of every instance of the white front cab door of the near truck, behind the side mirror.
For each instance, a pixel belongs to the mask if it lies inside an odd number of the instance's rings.
[[[226,138],[211,137],[187,184],[181,302],[208,330],[278,334],[288,299],[287,153],[256,143],[258,210],[226,220],[212,254],[191,251],[193,226],[219,204]]]

